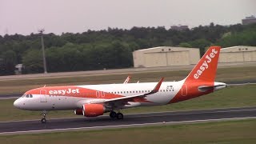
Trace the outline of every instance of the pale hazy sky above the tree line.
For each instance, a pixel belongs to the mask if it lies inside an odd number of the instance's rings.
[[[232,25],[256,15],[255,7],[255,0],[0,0],[0,35]]]

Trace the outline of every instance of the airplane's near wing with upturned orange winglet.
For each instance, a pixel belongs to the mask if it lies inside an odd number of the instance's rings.
[[[154,90],[151,90],[149,93],[145,93],[145,94],[135,94],[135,95],[130,95],[130,96],[127,96],[127,97],[121,97],[121,98],[112,98],[112,99],[104,99],[102,101],[92,101],[90,103],[112,103],[112,102],[129,102],[132,100],[132,98],[145,98],[147,95],[150,95],[150,94],[154,94],[154,93],[157,93],[158,90],[160,89],[160,86],[162,85],[162,81],[163,81],[164,78],[161,78],[160,81],[158,82],[158,84],[154,87]]]

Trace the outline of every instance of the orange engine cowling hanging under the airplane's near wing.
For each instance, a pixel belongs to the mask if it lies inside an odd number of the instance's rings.
[[[101,104],[85,104],[82,106],[82,114],[85,117],[97,117],[102,115],[105,107]]]

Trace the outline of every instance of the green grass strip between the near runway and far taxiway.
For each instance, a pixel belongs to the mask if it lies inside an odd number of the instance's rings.
[[[256,106],[256,85],[234,86],[219,90],[212,94],[190,99],[165,106],[138,107],[122,110],[124,114],[175,111],[175,110],[202,110],[213,108],[227,108],[239,106]],[[40,112],[18,110],[13,106],[13,99],[0,101],[0,121],[41,119]],[[77,117],[73,110],[50,111],[47,118]]]

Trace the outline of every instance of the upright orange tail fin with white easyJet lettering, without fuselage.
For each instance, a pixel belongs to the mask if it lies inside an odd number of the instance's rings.
[[[186,81],[214,82],[220,50],[220,46],[210,46],[187,76]]]

